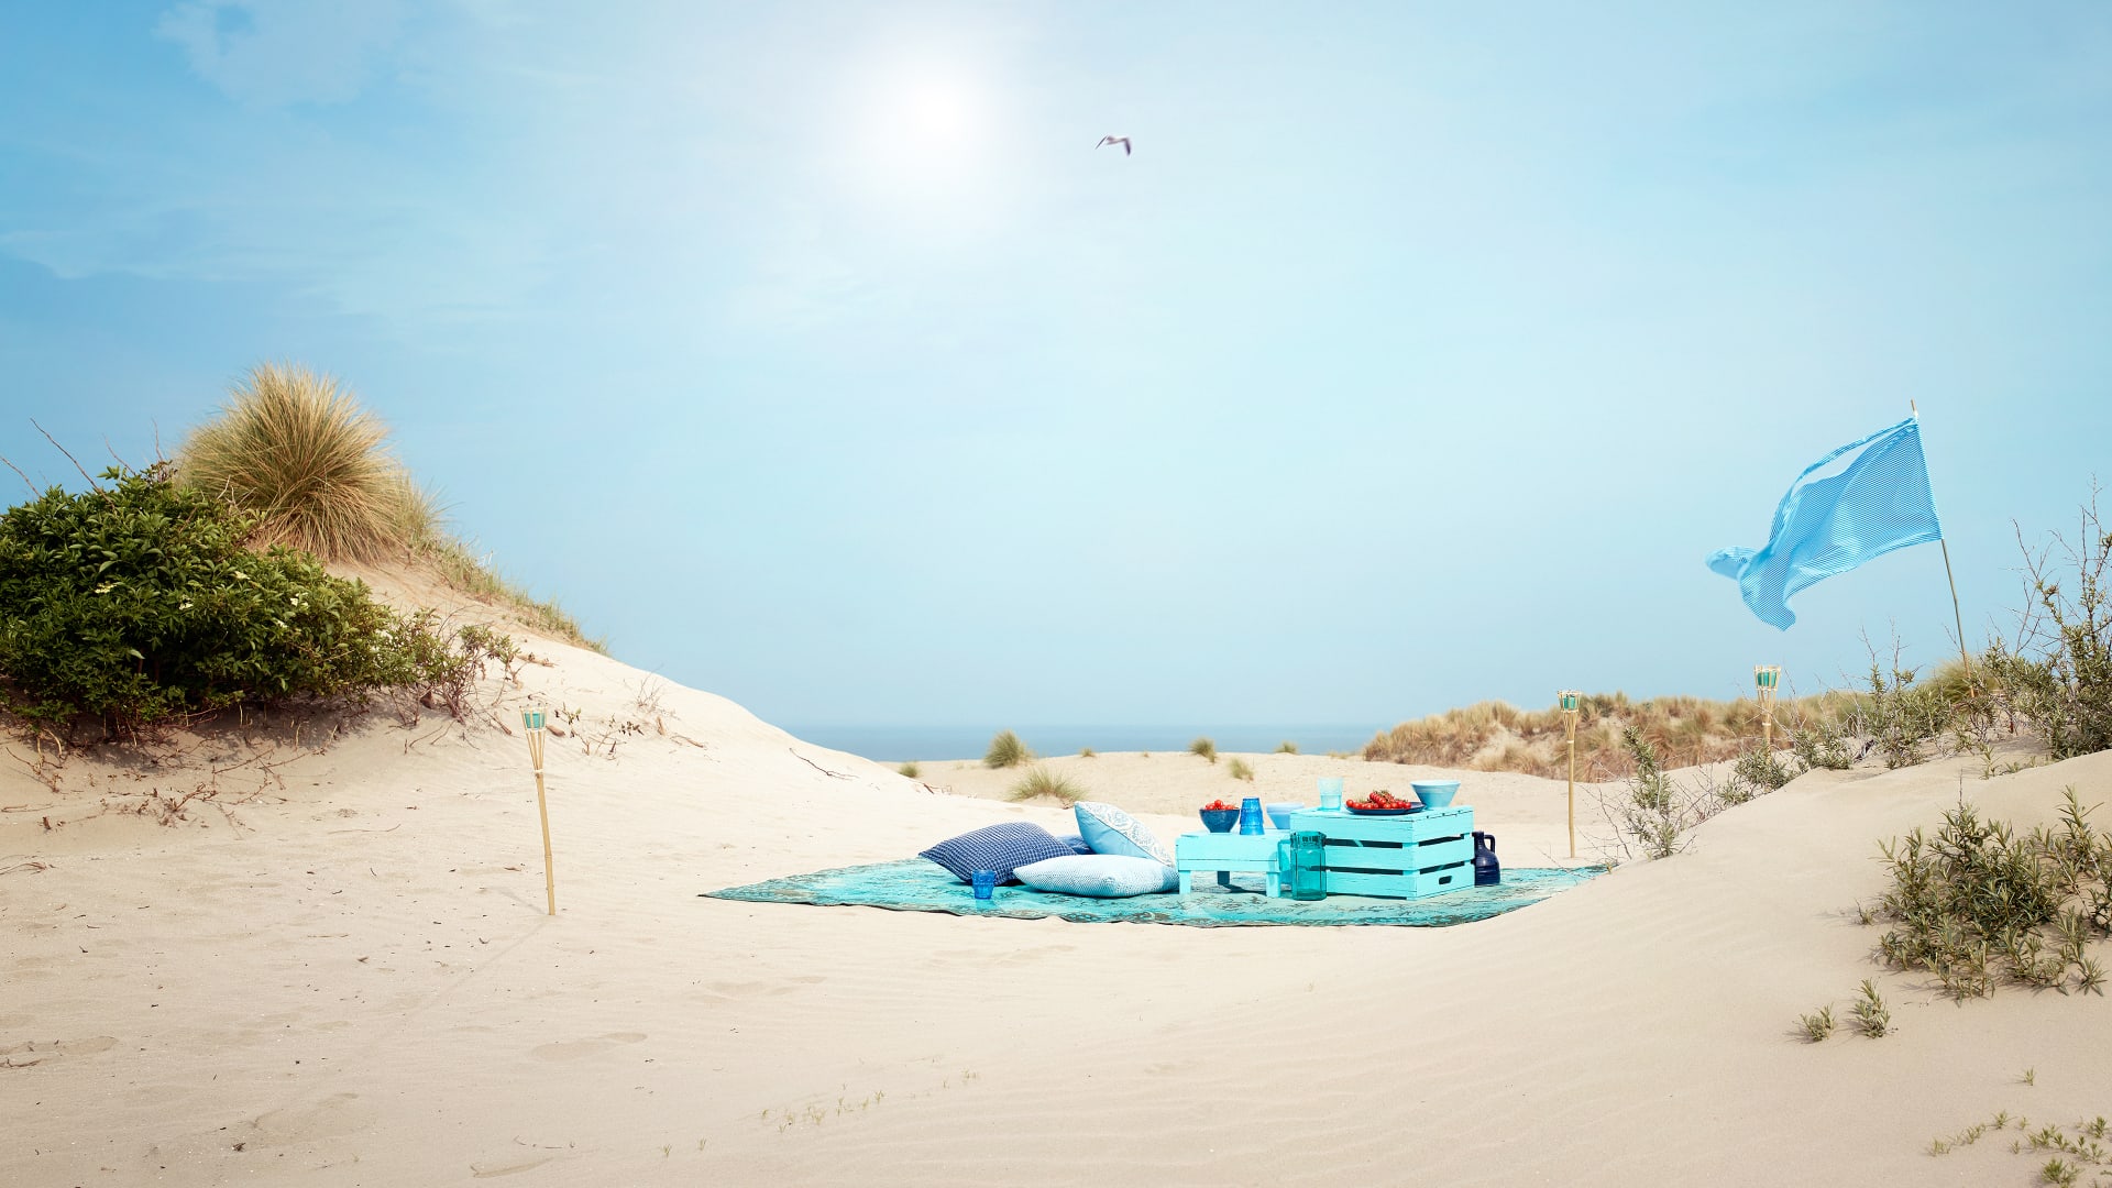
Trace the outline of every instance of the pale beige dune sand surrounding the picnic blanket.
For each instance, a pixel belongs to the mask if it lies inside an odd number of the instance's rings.
[[[1814,772],[1442,930],[748,905],[697,892],[1069,814],[530,647],[467,723],[272,719],[156,763],[8,740],[0,1184],[2021,1186],[2044,1156],[2015,1133],[1930,1139],[2112,1112],[2112,1000],[1951,1004],[1854,922],[1880,837],[1960,795],[2049,820],[2063,786],[2108,799],[2112,755]],[[555,917],[528,702],[570,723]],[[1244,759],[1267,799],[1436,774]],[[1054,763],[1162,837],[1246,788],[1189,755]],[[1455,776],[1510,865],[1567,860],[1561,782]],[[1795,1036],[1863,979],[1892,1036]]]

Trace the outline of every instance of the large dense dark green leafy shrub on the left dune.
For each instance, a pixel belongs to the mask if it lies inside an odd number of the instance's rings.
[[[44,723],[99,714],[120,731],[232,704],[365,702],[418,687],[460,712],[511,641],[444,638],[308,554],[243,547],[256,520],[167,463],[112,467],[0,516],[0,698]]]

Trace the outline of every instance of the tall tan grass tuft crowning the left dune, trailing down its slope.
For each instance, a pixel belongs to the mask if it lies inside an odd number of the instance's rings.
[[[323,560],[408,564],[505,605],[536,632],[606,653],[555,600],[534,598],[446,531],[444,516],[389,450],[389,427],[336,378],[258,364],[175,457],[184,484],[258,518],[251,545]]]

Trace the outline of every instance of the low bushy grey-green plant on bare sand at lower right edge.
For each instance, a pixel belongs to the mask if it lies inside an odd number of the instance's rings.
[[[2017,833],[1960,801],[1932,833],[1880,841],[1892,924],[1878,955],[1928,970],[1951,998],[1983,998],[2000,979],[2104,994],[2089,945],[2112,936],[2112,833],[2091,827],[2066,788],[2059,827]]]

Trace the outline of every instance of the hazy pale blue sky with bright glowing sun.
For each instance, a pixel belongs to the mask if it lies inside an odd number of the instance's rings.
[[[1913,402],[2013,632],[2108,469],[2106,211],[2095,2],[6,0],[0,454],[329,372],[794,729],[1812,691],[1956,649],[1943,554],[1787,632],[1706,554]]]

